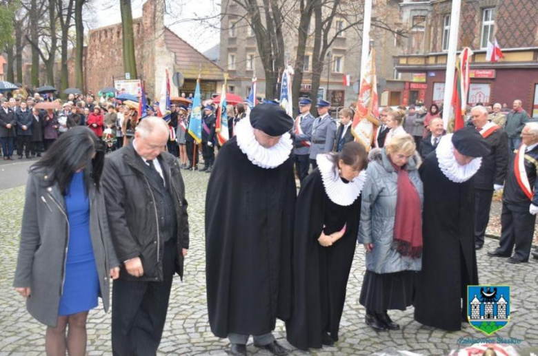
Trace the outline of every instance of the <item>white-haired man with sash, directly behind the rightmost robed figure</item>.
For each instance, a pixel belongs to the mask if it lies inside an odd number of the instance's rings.
[[[490,145],[490,154],[482,157],[482,164],[475,174],[475,249],[484,246],[484,235],[490,221],[493,191],[502,189],[508,166],[508,136],[488,119],[488,111],[483,106],[471,110],[472,124]]]

